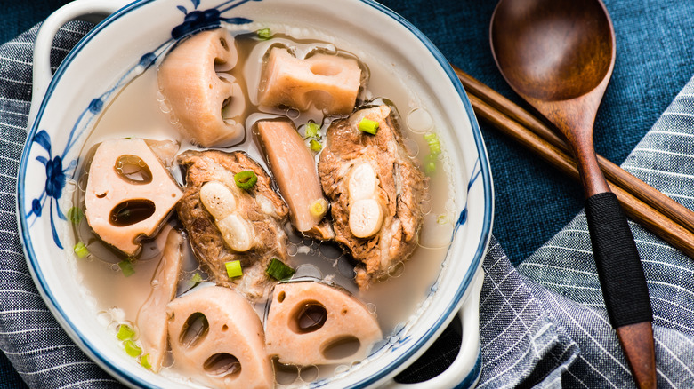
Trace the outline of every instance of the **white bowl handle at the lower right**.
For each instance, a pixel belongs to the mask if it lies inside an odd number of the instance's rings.
[[[456,360],[440,375],[416,384],[399,384],[394,381],[384,385],[388,389],[419,389],[432,387],[470,388],[480,378],[480,291],[484,272],[477,272],[472,280],[471,295],[458,311],[463,324],[463,338]]]

